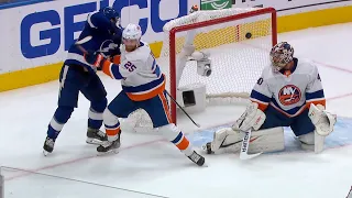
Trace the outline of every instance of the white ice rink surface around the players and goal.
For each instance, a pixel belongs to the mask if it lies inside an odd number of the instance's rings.
[[[278,35],[278,41],[293,44],[297,57],[317,63],[328,110],[338,114],[321,154],[302,152],[286,129],[284,152],[245,162],[238,154],[206,155],[209,166],[197,167],[161,136],[129,132],[122,135],[120,153],[98,157],[96,146],[85,143],[89,102],[80,96],[54,153],[44,157],[42,146],[58,91],[58,82],[52,81],[0,94],[6,198],[344,198],[352,186],[351,32],[352,23],[346,23]],[[101,78],[111,101],[120,82]],[[211,108],[194,116],[201,129],[185,117],[179,119],[179,127],[197,146],[244,110]]]

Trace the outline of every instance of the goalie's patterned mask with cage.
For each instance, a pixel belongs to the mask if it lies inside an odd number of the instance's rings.
[[[274,72],[280,70],[294,59],[294,47],[287,42],[276,44],[271,51],[271,62]]]

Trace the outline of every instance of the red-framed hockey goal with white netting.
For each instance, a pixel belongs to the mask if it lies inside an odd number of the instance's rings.
[[[270,63],[268,51],[277,42],[276,32],[273,8],[196,11],[169,21],[164,25],[163,47],[157,59],[166,75],[168,92],[178,99],[177,88],[200,82],[206,85],[208,102],[216,99],[216,103],[221,105],[248,99],[262,69]],[[179,68],[177,58],[186,44],[210,54],[210,76],[198,75],[195,61],[187,61]],[[169,106],[176,122],[177,107],[173,101]],[[152,128],[143,110],[132,113],[128,120],[134,128]]]

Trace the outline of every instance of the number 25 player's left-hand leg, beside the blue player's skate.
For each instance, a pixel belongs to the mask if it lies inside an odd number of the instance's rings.
[[[124,91],[121,91],[102,113],[108,141],[97,147],[99,153],[106,153],[120,147],[121,129],[119,118],[128,118],[136,110],[136,105]]]

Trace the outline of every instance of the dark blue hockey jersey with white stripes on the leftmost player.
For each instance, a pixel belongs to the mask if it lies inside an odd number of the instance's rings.
[[[109,57],[120,54],[121,36],[122,28],[112,23],[100,10],[88,15],[77,42],[88,52],[100,52]],[[95,66],[85,61],[84,52],[76,44],[68,50],[65,65],[80,65],[89,72],[97,72]]]

